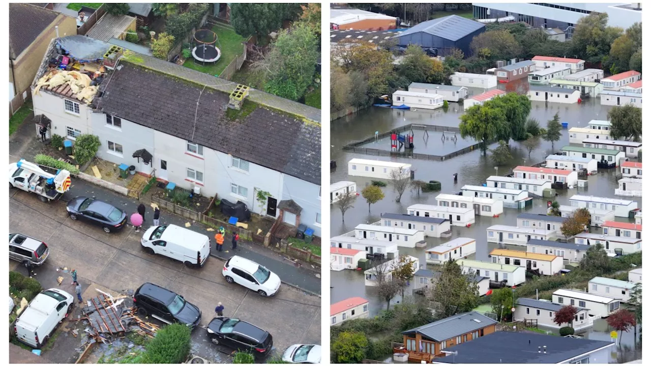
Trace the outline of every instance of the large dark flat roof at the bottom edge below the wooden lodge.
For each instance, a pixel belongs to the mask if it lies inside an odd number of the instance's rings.
[[[496,331],[472,342],[445,348],[457,352],[454,356],[437,357],[441,363],[563,363],[569,359],[589,354],[613,342],[592,339],[559,337],[539,333]],[[538,347],[547,346],[546,353]]]

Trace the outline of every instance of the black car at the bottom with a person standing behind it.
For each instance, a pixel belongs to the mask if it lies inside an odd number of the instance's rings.
[[[258,358],[266,356],[273,348],[273,337],[268,331],[240,319],[216,317],[206,330],[215,345],[251,352]]]

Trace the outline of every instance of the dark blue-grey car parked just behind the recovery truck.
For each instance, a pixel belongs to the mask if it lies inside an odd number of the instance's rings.
[[[126,225],[126,212],[94,198],[76,197],[66,206],[71,219],[99,225],[105,232],[118,231]]]

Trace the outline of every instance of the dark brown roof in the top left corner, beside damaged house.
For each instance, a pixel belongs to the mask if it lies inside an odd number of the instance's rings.
[[[57,16],[58,12],[36,5],[9,3],[9,58],[17,59]]]

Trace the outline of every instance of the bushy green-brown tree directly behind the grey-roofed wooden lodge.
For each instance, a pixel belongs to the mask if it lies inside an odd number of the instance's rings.
[[[479,293],[474,275],[464,274],[456,262],[445,262],[430,300],[438,303],[437,315],[441,318],[475,309]]]

